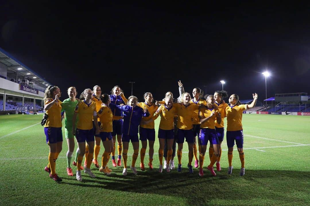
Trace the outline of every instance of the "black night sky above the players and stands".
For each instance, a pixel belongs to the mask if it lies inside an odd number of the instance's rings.
[[[310,93],[309,5],[13,4],[0,8],[0,47],[60,87],[120,85],[128,97],[144,92],[178,96],[221,90],[240,99],[259,94]],[[82,71],[81,71],[82,70]]]

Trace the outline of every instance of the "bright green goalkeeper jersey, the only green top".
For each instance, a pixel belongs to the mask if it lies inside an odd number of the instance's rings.
[[[66,113],[66,118],[64,120],[64,128],[66,129],[72,129],[72,119],[73,119],[73,114],[74,114],[74,109],[75,107],[77,106],[78,104],[78,99],[75,99],[75,101],[71,101],[70,98],[68,99],[65,99],[61,106],[62,106],[62,110],[61,111],[64,111]],[[75,121],[75,128],[77,126],[77,123],[78,123],[78,116],[76,118],[76,121]]]

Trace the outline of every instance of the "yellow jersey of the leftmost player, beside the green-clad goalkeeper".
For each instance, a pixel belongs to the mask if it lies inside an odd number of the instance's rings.
[[[47,99],[45,101],[45,104],[50,103],[54,99]],[[44,124],[44,127],[62,127],[61,123],[61,101],[58,100],[57,102],[54,103],[54,105],[49,108],[46,113],[47,113],[47,120],[46,123]]]

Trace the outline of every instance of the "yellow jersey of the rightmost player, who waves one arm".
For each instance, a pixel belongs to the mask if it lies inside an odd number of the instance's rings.
[[[225,108],[227,116],[227,131],[238,131],[242,129],[242,111],[246,110],[247,107],[247,104],[241,104]]]

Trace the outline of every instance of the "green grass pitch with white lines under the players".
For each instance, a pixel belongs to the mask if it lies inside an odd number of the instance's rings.
[[[37,124],[41,118],[41,115],[0,116],[1,205],[310,205],[310,118],[306,116],[244,115],[243,177],[239,176],[237,151],[234,151],[233,174],[227,174],[225,139],[222,171],[216,172],[216,177],[211,177],[206,168],[202,178],[197,169],[188,174],[186,145],[182,173],[172,170],[160,174],[156,138],[154,171],[138,170],[138,175],[133,175],[128,169],[128,175],[122,176],[122,167],[113,168],[110,161],[109,167],[113,169],[110,176],[92,165],[96,178],[82,173],[83,181],[78,182],[75,176],[66,174],[64,139],[56,164],[56,172],[63,178],[61,183],[55,183],[44,171],[48,146],[43,128]],[[159,121],[156,123],[158,128]],[[102,152],[103,149],[100,156]],[[132,152],[130,146],[128,153]],[[148,156],[145,162],[147,159]],[[205,166],[207,159],[206,156]],[[137,167],[139,163],[138,158]]]

